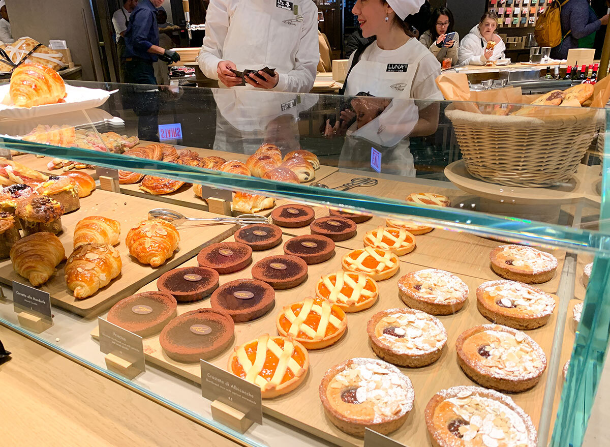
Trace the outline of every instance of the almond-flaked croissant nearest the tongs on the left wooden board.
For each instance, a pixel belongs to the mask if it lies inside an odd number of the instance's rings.
[[[180,234],[176,227],[163,220],[143,220],[129,230],[125,244],[129,253],[142,264],[159,267],[178,248]]]

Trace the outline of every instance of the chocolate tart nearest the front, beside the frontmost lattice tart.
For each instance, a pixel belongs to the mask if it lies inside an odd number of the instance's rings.
[[[215,357],[233,341],[231,316],[217,309],[198,309],[171,320],[161,331],[159,343],[172,360],[199,362]]]

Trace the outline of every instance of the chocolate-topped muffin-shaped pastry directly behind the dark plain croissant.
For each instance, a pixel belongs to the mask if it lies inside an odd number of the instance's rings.
[[[21,219],[21,227],[26,235],[39,231],[53,234],[62,231],[63,206],[45,195],[24,198],[15,214]]]

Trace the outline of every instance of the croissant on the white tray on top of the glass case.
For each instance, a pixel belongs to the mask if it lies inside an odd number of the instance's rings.
[[[21,64],[10,76],[10,99],[17,107],[59,103],[66,85],[57,71],[39,64]]]

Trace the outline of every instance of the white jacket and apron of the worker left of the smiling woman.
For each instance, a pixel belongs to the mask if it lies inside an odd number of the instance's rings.
[[[239,71],[275,68],[279,80],[273,90],[309,92],[320,60],[317,6],[311,0],[210,1],[199,67],[218,79],[221,60],[231,60]]]

